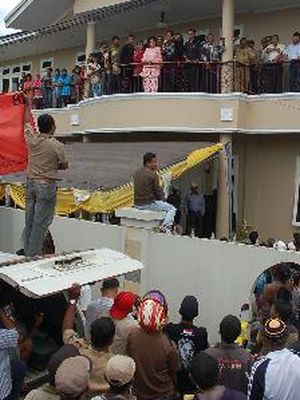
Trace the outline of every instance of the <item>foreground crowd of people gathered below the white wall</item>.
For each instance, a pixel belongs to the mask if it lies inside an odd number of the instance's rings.
[[[185,395],[195,400],[298,400],[300,269],[281,263],[268,273],[269,283],[255,292],[253,314],[246,304],[239,318],[225,316],[216,345],[207,329],[195,323],[200,310],[193,295],[181,302],[180,322],[171,322],[159,290],[140,298],[119,291],[119,280],[108,278],[101,297],[84,306],[81,288],[74,284],[64,307],[62,344],[48,363],[48,382],[25,400],[175,400]],[[86,321],[82,336],[75,328],[79,309]],[[16,374],[11,363],[19,360],[26,371],[30,337],[24,346],[24,328],[16,316],[0,311],[0,323],[0,399],[18,399],[24,373]],[[37,319],[34,325],[32,330]]]

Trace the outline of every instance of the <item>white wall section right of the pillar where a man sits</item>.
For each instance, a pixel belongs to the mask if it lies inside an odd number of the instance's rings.
[[[211,342],[218,341],[219,323],[227,314],[239,316],[249,302],[256,278],[280,261],[300,263],[300,253],[280,252],[234,243],[150,234],[145,253],[147,289],[160,289],[168,298],[170,319],[184,296],[200,301],[198,323],[208,328]]]

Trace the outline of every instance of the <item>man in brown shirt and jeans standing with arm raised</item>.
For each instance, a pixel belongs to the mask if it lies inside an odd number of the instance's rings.
[[[66,170],[64,145],[54,137],[55,121],[49,114],[39,116],[33,129],[26,101],[24,133],[28,144],[26,187],[25,255],[42,255],[43,243],[54,218],[58,170]]]

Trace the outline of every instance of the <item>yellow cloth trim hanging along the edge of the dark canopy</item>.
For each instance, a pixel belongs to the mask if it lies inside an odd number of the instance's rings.
[[[169,174],[172,180],[178,179],[189,169],[207,160],[215,153],[223,149],[222,144],[195,150],[189,156],[177,164],[163,168],[159,171],[160,176]],[[26,207],[26,190],[21,184],[0,183],[0,199],[5,195],[5,186],[9,187],[13,202],[20,208]],[[56,214],[66,216],[75,211],[86,211],[88,213],[108,213],[121,207],[133,205],[133,184],[127,183],[111,190],[98,190],[88,192],[87,190],[58,189]]]

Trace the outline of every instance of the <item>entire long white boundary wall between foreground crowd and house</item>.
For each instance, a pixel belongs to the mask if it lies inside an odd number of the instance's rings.
[[[0,207],[0,251],[20,248],[24,213]],[[55,218],[51,227],[58,251],[110,247],[123,251],[126,230],[122,227]],[[267,248],[191,239],[142,232],[140,235],[142,291],[160,289],[166,294],[170,319],[177,320],[182,298],[194,294],[200,300],[198,323],[208,328],[212,343],[218,340],[221,319],[230,313],[239,315],[249,302],[251,288],[265,269],[280,262],[300,264],[300,253]]]

